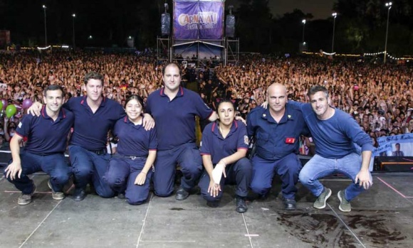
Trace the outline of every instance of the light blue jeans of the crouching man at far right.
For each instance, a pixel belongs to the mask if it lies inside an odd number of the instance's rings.
[[[305,163],[305,166],[300,172],[300,182],[308,188],[313,195],[318,197],[323,193],[324,186],[320,183],[318,178],[331,175],[333,173],[343,173],[352,180],[352,183],[344,190],[345,199],[350,201],[357,195],[362,193],[365,189],[360,187],[355,182],[355,176],[359,173],[361,168],[362,158],[357,153],[350,153],[343,158],[323,158],[315,155],[313,158]],[[370,183],[372,183],[372,176],[370,174]]]

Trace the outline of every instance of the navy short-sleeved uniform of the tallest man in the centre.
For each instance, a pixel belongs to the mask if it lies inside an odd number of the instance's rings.
[[[206,119],[212,109],[197,93],[179,87],[172,101],[164,94],[164,88],[152,92],[147,98],[146,111],[155,119],[158,138],[155,194],[172,194],[177,163],[184,174],[181,187],[190,190],[202,172],[202,158],[195,143],[195,117]]]

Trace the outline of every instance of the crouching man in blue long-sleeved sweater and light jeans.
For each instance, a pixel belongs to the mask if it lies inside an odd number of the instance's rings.
[[[369,171],[372,141],[350,114],[330,107],[325,87],[311,87],[308,97],[310,104],[293,103],[300,106],[315,143],[315,156],[300,171],[300,182],[318,197],[313,207],[322,209],[331,190],[318,178],[343,173],[352,179],[352,183],[338,192],[339,209],[350,212],[350,201],[372,185]],[[362,156],[357,153],[355,144],[361,147]]]

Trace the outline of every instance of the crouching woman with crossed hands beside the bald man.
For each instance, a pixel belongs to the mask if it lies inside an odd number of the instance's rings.
[[[224,184],[236,184],[236,212],[246,212],[246,195],[251,183],[251,162],[246,158],[249,146],[246,126],[234,120],[234,104],[229,100],[219,102],[216,112],[219,121],[208,124],[202,132],[201,155],[205,171],[199,188],[209,207],[217,207]],[[224,168],[224,177],[214,181],[212,171]],[[221,171],[218,171],[221,175]],[[215,172],[214,172],[215,174]]]

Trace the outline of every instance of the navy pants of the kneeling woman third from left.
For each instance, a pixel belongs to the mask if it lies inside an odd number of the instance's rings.
[[[108,171],[103,178],[115,192],[125,193],[127,203],[131,205],[145,203],[149,195],[152,168],[147,172],[143,185],[135,184],[135,179],[145,166],[146,159],[146,157],[137,157],[132,160],[115,155],[110,159]]]

